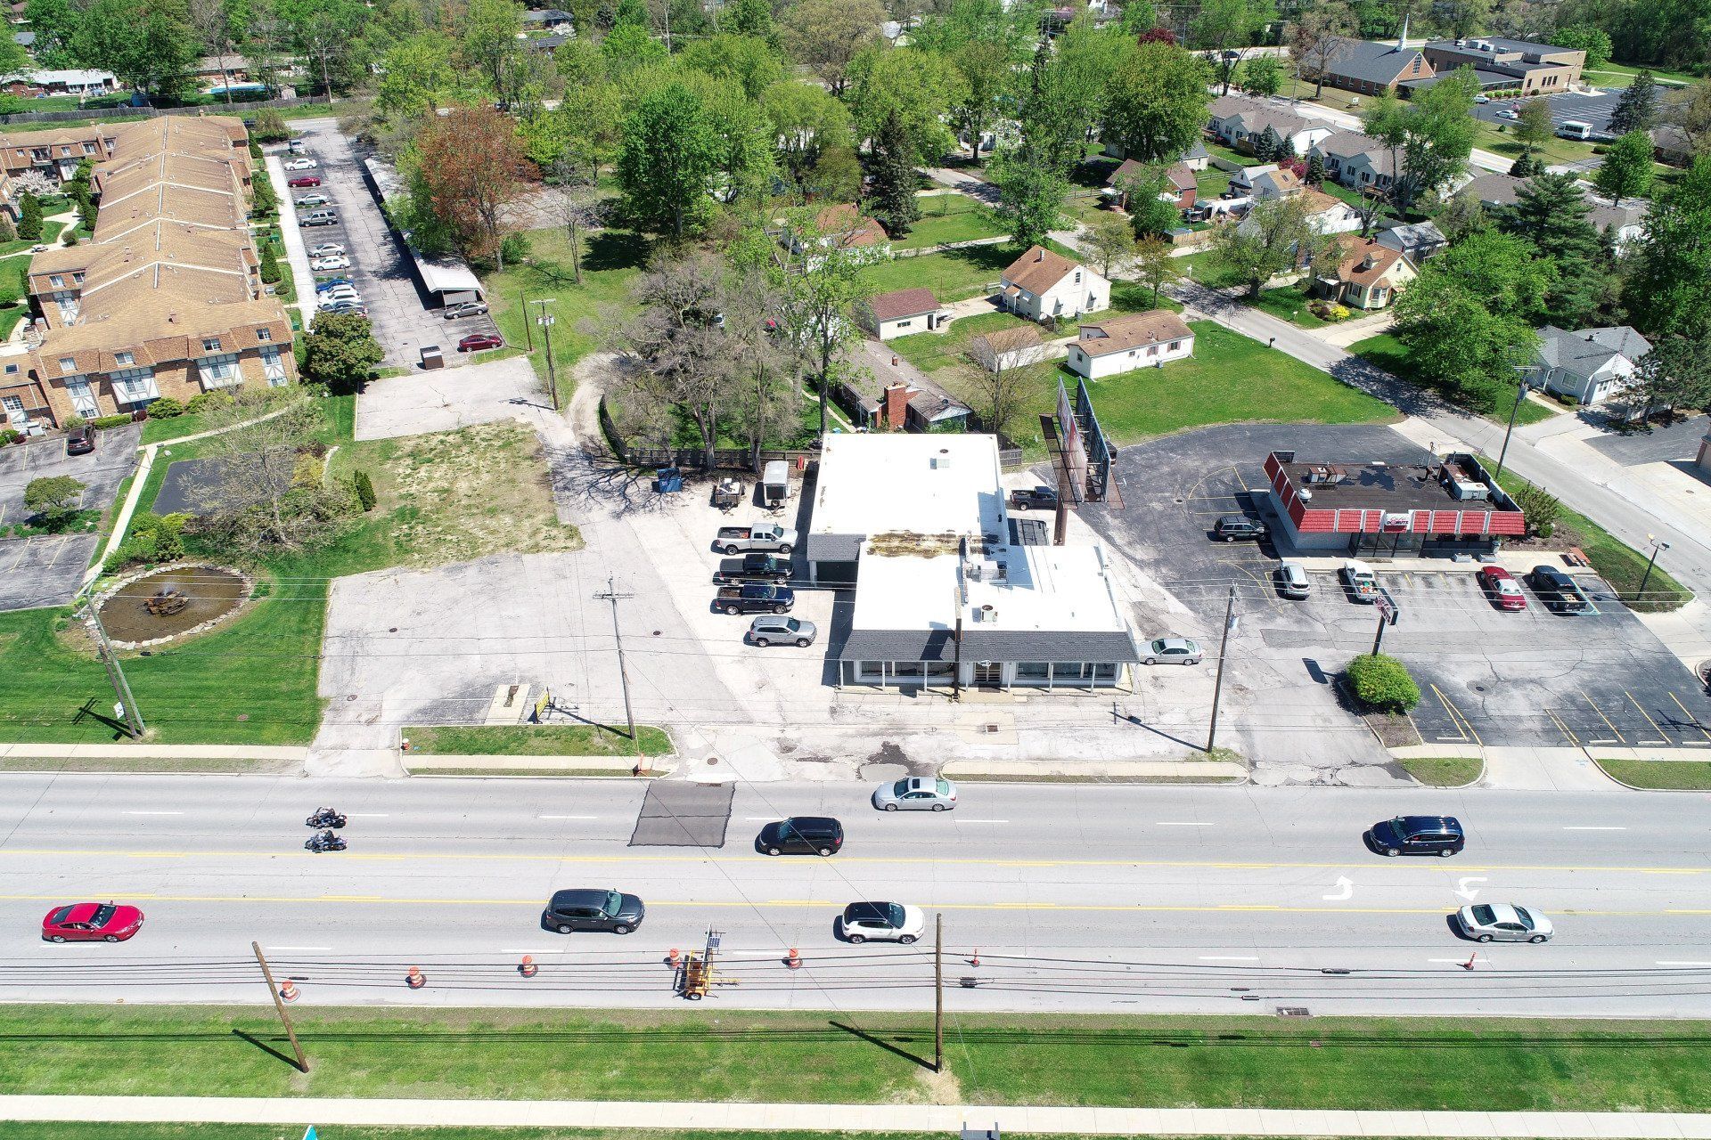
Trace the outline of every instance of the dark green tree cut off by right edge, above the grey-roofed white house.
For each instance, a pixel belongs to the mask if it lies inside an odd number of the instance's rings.
[[[1653,202],[1622,301],[1646,333],[1711,337],[1711,157]]]

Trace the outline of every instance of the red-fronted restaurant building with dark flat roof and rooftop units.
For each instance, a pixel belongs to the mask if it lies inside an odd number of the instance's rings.
[[[1355,557],[1490,554],[1526,520],[1471,455],[1430,463],[1299,463],[1266,456],[1271,508],[1297,550]]]

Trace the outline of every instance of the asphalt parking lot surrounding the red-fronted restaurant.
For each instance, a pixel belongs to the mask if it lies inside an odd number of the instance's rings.
[[[1372,649],[1379,615],[1352,602],[1335,573],[1316,573],[1305,602],[1282,598],[1273,579],[1280,552],[1270,540],[1211,540],[1218,516],[1230,513],[1259,514],[1276,530],[1261,470],[1275,448],[1343,461],[1424,455],[1388,427],[1211,427],[1126,448],[1117,460],[1126,509],[1083,514],[1193,612],[1194,629],[1184,632],[1203,643],[1217,644],[1235,588],[1240,624],[1228,668],[1254,708],[1254,743],[1314,764],[1352,747],[1336,730],[1352,721],[1329,680]],[[1415,711],[1422,740],[1711,747],[1702,685],[1596,576],[1578,578],[1596,612],[1567,617],[1547,612],[1531,588],[1526,610],[1497,610],[1473,564],[1394,573],[1372,562],[1400,610],[1382,649],[1408,663],[1424,694]]]

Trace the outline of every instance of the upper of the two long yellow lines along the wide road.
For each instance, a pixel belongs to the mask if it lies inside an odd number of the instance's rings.
[[[633,867],[638,863],[683,865],[683,863],[720,863],[727,867],[768,867],[770,860],[760,856],[731,855],[548,855],[548,853],[503,853],[503,851],[438,851],[438,853],[373,853],[373,851],[339,851],[334,856],[313,855],[310,851],[101,851],[79,848],[0,848],[0,856],[55,856],[70,855],[98,858],[159,858],[159,860],[315,860],[317,863],[380,861],[380,863],[423,863],[455,860],[464,861],[500,861],[500,863],[613,863]],[[1624,875],[1704,875],[1711,867],[1578,867],[1552,863],[1444,863],[1441,860],[1420,860],[1403,863],[1396,860],[1343,860],[1343,861],[1228,861],[1228,860],[1004,860],[1004,858],[965,858],[965,856],[910,856],[910,855],[838,855],[840,867],[857,865],[915,865],[915,867],[1131,867],[1131,868],[1181,868],[1181,870],[1362,870],[1362,872],[1444,872],[1465,875],[1468,872],[1562,872],[1562,873],[1624,873]]]

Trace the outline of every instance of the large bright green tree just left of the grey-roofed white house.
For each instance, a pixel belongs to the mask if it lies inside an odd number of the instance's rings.
[[[1415,367],[1468,407],[1494,410],[1538,345],[1555,270],[1516,234],[1475,232],[1420,268],[1396,299],[1394,335]]]

